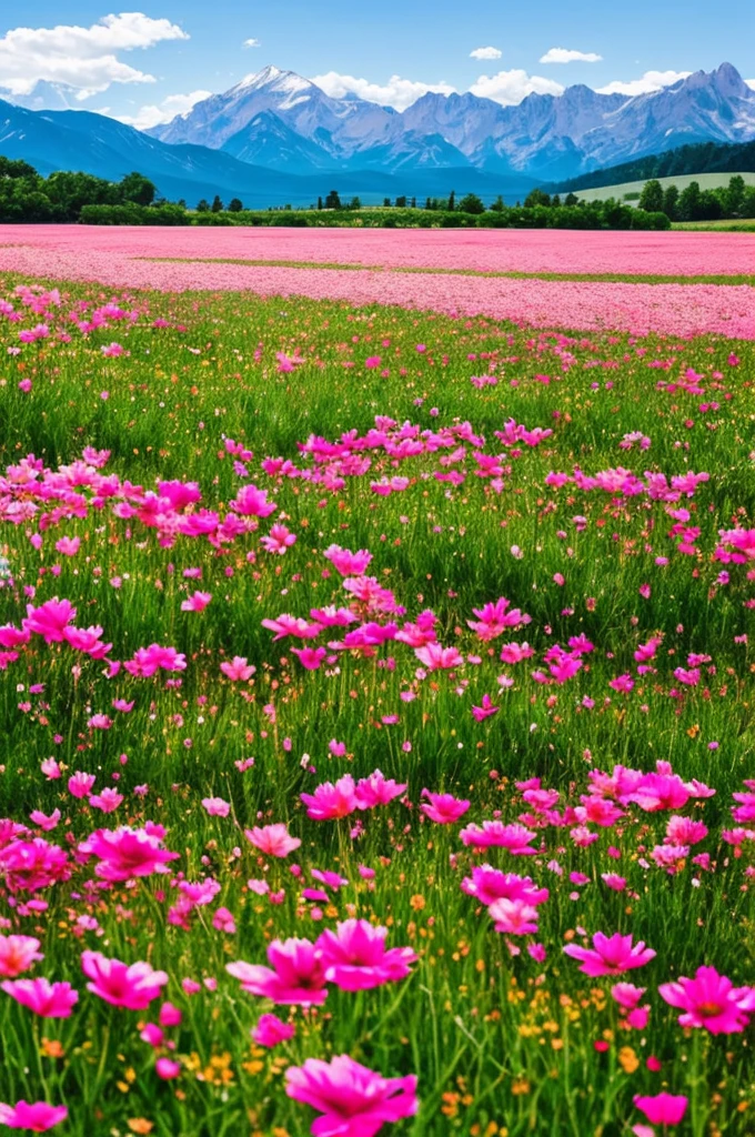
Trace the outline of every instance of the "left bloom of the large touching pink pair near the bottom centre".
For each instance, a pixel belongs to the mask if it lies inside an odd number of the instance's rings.
[[[325,1002],[325,971],[308,939],[274,939],[267,948],[269,968],[258,963],[226,964],[243,990],[279,1004],[320,1006]]]

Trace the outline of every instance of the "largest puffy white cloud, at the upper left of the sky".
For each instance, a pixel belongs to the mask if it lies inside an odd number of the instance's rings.
[[[92,94],[110,83],[154,83],[152,75],[123,63],[118,52],[188,39],[171,20],[140,11],[105,16],[91,27],[15,27],[0,38],[0,86],[28,94],[47,80]]]

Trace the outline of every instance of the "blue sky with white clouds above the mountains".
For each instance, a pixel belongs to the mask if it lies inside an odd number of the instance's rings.
[[[38,0],[26,20],[3,8],[0,89],[23,101],[36,80],[63,83],[75,106],[140,126],[268,63],[399,108],[428,89],[500,102],[573,83],[638,93],[724,59],[755,83],[753,0],[729,0],[724,19],[708,0],[378,0],[346,18],[313,0],[158,0],[128,14]]]

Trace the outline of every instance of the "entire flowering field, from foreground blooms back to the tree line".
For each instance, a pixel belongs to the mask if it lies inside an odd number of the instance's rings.
[[[0,233],[0,1127],[755,1132],[728,236]]]

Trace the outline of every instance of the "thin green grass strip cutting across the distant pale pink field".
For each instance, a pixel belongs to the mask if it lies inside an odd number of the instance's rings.
[[[150,260],[156,264],[190,265],[248,265],[252,268],[329,268],[341,272],[365,272],[365,273],[431,273],[440,276],[484,276],[490,279],[503,277],[504,280],[523,281],[574,281],[582,284],[748,284],[755,285],[755,275],[752,273],[692,273],[691,275],[663,274],[663,273],[525,273],[516,271],[486,271],[480,268],[430,268],[414,265],[395,265],[387,268],[384,265],[360,265],[360,264],[337,264],[333,262],[317,260],[260,260],[247,259],[244,257],[135,257],[136,260]]]

